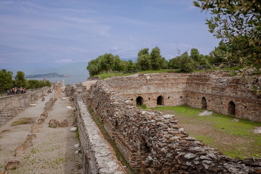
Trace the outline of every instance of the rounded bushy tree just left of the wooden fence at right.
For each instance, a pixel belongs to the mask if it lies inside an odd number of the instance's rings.
[[[183,72],[191,72],[199,67],[199,63],[185,52],[179,57],[179,67]]]

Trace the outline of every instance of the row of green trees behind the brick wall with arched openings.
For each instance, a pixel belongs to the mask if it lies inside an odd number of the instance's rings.
[[[143,48],[139,50],[136,62],[121,60],[118,55],[105,53],[88,62],[87,70],[90,76],[109,73],[110,71],[132,70],[181,69],[182,72],[191,72],[199,65],[224,62],[225,59],[220,56],[219,51],[232,52],[235,49],[238,49],[235,44],[219,42],[219,46],[209,55],[200,54],[198,49],[192,48],[190,55],[187,51],[181,54],[178,50],[177,57],[166,60],[160,54],[159,47],[152,48],[151,52],[149,52],[149,48]]]

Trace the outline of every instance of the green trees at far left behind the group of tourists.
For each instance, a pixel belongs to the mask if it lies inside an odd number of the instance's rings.
[[[36,80],[25,78],[25,74],[22,71],[17,71],[14,79],[13,72],[7,71],[6,69],[2,69],[0,71],[0,91],[6,92],[10,88],[13,87],[23,87],[26,89],[38,89],[51,86],[51,82],[49,80]]]

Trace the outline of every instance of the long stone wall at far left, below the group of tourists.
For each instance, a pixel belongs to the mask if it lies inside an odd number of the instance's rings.
[[[10,95],[0,98],[0,127],[16,117],[20,111],[41,98],[50,87],[26,90],[25,94]]]

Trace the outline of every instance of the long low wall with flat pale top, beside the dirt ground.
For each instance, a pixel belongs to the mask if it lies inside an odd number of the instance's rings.
[[[92,119],[81,95],[77,92],[81,87],[74,85],[74,103],[76,108],[78,132],[82,150],[82,168],[84,173],[125,173],[122,164],[117,160],[114,151]]]

